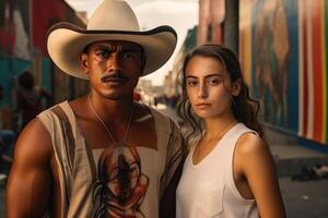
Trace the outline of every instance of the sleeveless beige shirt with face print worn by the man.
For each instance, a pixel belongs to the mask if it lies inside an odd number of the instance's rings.
[[[159,217],[160,198],[181,159],[181,137],[172,119],[154,109],[150,111],[157,149],[91,150],[67,101],[38,116],[51,135],[61,217]]]

